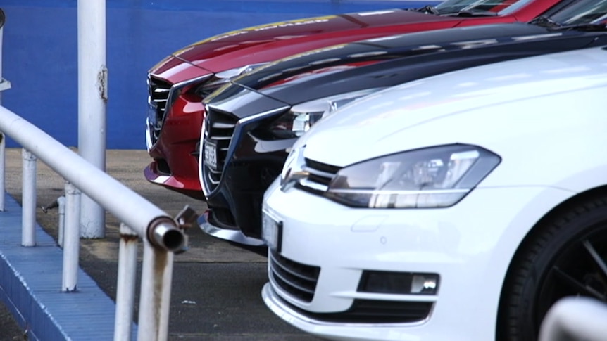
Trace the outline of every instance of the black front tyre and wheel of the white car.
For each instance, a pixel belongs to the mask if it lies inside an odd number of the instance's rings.
[[[607,198],[563,210],[525,239],[506,276],[497,340],[537,340],[546,311],[565,296],[607,297]]]

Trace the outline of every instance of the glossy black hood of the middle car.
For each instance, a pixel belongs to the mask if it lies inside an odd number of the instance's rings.
[[[394,86],[466,67],[604,44],[607,34],[601,32],[549,30],[524,23],[402,34],[277,60],[234,79],[209,96],[207,103],[248,117],[278,106]]]

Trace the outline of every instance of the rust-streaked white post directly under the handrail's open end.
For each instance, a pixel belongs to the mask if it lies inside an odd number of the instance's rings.
[[[138,341],[167,340],[173,257],[144,238]]]

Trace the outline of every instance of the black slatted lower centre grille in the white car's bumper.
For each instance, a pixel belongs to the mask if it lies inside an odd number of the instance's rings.
[[[270,276],[282,290],[303,302],[311,302],[316,290],[320,267],[294,262],[271,251]]]

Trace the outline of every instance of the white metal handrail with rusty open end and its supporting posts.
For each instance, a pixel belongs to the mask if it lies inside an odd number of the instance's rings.
[[[67,181],[66,206],[69,206],[70,202],[73,202],[72,207],[77,206],[75,202],[78,200],[70,200],[70,195],[77,195],[77,192],[82,191],[122,221],[124,226],[128,226],[132,233],[136,233],[143,239],[144,255],[137,340],[166,340],[168,336],[173,256],[174,252],[180,252],[186,247],[187,236],[182,231],[182,227],[189,226],[192,219],[196,219],[192,210],[186,207],[173,219],[156,205],[124,186],[120,181],[94,167],[35,125],[2,106],[0,106],[0,131],[3,131],[4,134],[23,146],[24,169],[30,169],[31,166],[27,165],[27,162],[35,162],[35,157],[38,157],[51,169],[63,176]],[[35,157],[31,157],[31,155],[35,155]],[[4,169],[1,169],[0,172],[3,176],[2,181],[4,181]],[[25,179],[25,174],[23,177]],[[33,185],[24,183],[24,186],[35,187],[35,176],[32,181]],[[24,209],[35,205],[35,197],[30,199],[32,202],[25,202],[25,198],[22,201]],[[62,283],[62,290],[67,292],[76,288],[75,282],[65,284],[65,272],[75,273],[73,269],[66,268],[73,268],[69,265],[74,264],[73,259],[75,259],[75,266],[77,267],[77,252],[79,249],[77,227],[68,231],[68,225],[78,226],[78,219],[73,214],[68,217],[70,211],[70,208],[66,209],[63,252],[64,283]],[[68,220],[73,221],[73,224],[68,224]],[[132,240],[130,233],[124,233],[124,228],[121,231],[123,232],[121,236],[125,237],[122,239]],[[23,231],[23,234],[24,236],[28,235],[27,231]],[[31,238],[25,239],[30,240]],[[70,240],[69,243],[68,240]],[[121,257],[118,259],[118,283],[132,282],[134,277],[129,272],[132,272],[130,269],[133,269],[132,264],[134,261],[136,262],[137,255],[132,256],[132,251],[123,252],[123,246],[129,247],[129,243],[122,242],[121,240]],[[123,254],[130,255],[130,257],[122,257]],[[121,278],[121,276],[127,278]],[[67,276],[67,278],[71,277]],[[68,280],[68,282],[70,281]],[[128,300],[132,300],[130,297],[134,295],[128,292],[132,290],[132,285],[134,284],[119,285],[118,290],[127,290],[127,292],[117,292],[117,297],[129,297]],[[66,287],[67,290],[65,290]],[[115,340],[130,340],[132,316],[130,318],[125,316],[132,314],[132,302],[124,301],[120,300],[118,302],[117,300],[116,302],[116,309],[120,314],[116,315]],[[128,319],[128,321],[122,321],[121,323],[120,319]]]

